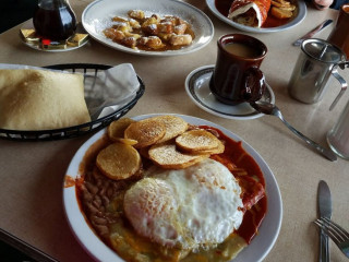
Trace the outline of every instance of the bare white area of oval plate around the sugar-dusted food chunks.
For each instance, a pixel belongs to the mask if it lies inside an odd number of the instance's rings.
[[[111,25],[111,17],[127,16],[130,10],[143,10],[151,15],[178,15],[189,22],[195,34],[193,43],[179,50],[168,51],[144,51],[119,45],[107,38],[103,31]],[[82,24],[91,37],[101,44],[142,56],[178,56],[197,51],[205,47],[214,36],[214,26],[208,16],[197,8],[178,0],[97,0],[88,4],[82,14]]]

